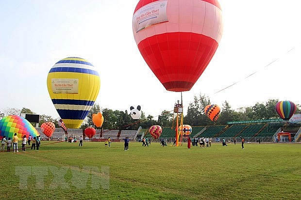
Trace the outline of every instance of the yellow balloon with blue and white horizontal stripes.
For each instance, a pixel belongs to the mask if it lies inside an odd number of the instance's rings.
[[[67,128],[79,128],[98,96],[100,77],[90,62],[69,57],[50,69],[47,88]]]

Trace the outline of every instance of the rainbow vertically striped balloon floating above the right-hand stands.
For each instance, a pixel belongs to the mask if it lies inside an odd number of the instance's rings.
[[[276,104],[276,112],[284,119],[289,120],[297,110],[297,106],[291,101],[280,101]]]

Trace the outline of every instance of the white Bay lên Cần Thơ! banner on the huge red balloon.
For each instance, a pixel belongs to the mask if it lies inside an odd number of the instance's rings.
[[[141,7],[133,16],[134,30],[138,32],[153,24],[167,22],[166,7],[167,0],[155,1]]]

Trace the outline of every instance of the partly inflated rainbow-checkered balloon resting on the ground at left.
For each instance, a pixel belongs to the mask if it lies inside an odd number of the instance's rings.
[[[36,137],[39,135],[37,130],[23,117],[17,115],[8,115],[0,120],[0,136],[6,136],[6,139],[13,138],[17,133],[19,140],[25,135],[26,138],[31,135]]]

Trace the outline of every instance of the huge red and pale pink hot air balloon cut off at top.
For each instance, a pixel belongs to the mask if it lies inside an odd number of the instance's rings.
[[[138,49],[168,91],[189,91],[223,32],[217,0],[139,0],[133,16]]]

